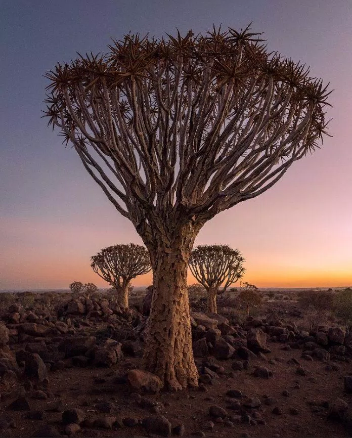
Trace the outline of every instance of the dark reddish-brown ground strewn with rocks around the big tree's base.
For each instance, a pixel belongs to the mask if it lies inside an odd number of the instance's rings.
[[[14,295],[0,322],[0,436],[352,435],[352,335],[340,327],[299,329],[293,302],[247,319],[193,303],[199,387],[168,392],[140,369],[135,301],[124,313],[111,295],[67,294],[28,310]]]

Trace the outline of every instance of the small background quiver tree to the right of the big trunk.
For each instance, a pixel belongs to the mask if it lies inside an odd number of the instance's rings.
[[[243,277],[243,262],[240,252],[229,245],[199,245],[192,250],[188,266],[207,291],[208,312],[217,313],[216,295]]]

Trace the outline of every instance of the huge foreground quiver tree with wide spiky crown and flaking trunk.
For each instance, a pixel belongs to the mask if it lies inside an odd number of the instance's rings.
[[[128,34],[107,55],[46,74],[49,124],[149,250],[144,367],[172,388],[198,384],[186,286],[195,237],[272,187],[325,134],[322,81],[261,41],[248,28]]]

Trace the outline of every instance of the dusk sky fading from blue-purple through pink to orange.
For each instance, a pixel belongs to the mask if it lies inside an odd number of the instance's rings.
[[[43,74],[129,31],[160,37],[212,25],[264,32],[270,51],[330,82],[331,138],[257,198],[205,224],[195,244],[229,244],[258,287],[352,285],[352,2],[349,0],[2,0],[0,290],[107,287],[90,257],[142,243],[41,118]],[[193,283],[194,279],[189,278]],[[133,284],[151,283],[151,274]]]

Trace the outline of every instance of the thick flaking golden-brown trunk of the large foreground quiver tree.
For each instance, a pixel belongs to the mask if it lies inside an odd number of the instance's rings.
[[[198,385],[186,281],[195,236],[188,228],[168,240],[168,245],[164,239],[157,248],[155,244],[149,248],[154,282],[144,368],[176,390]]]

